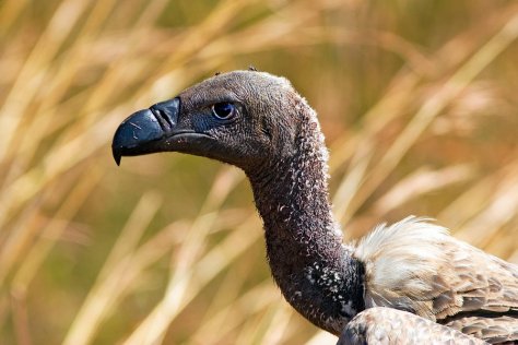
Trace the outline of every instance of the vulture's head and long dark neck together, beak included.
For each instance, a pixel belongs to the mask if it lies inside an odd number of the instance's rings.
[[[362,310],[363,271],[344,257],[328,202],[323,135],[287,80],[257,71],[210,78],[127,118],[113,151],[117,163],[172,151],[242,168],[264,224],[272,275],[290,304],[335,334]]]

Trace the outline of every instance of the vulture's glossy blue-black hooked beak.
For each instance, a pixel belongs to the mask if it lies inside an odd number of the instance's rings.
[[[162,140],[175,133],[180,110],[178,97],[139,110],[120,123],[111,151],[117,165],[122,156],[139,156],[163,151]]]

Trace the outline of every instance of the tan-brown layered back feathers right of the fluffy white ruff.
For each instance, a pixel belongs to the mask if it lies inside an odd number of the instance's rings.
[[[494,344],[518,342],[517,266],[457,240],[444,247],[451,261],[436,276],[437,322]]]

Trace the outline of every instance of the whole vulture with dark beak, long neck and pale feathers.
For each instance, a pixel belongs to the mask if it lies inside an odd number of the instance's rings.
[[[128,117],[111,148],[240,168],[282,295],[339,344],[518,343],[517,265],[414,216],[342,241],[317,115],[284,78],[216,74]]]

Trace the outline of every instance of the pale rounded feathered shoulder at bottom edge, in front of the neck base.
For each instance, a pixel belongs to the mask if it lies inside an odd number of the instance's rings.
[[[338,345],[358,344],[486,343],[407,311],[377,307],[364,310],[351,320],[338,341]]]

